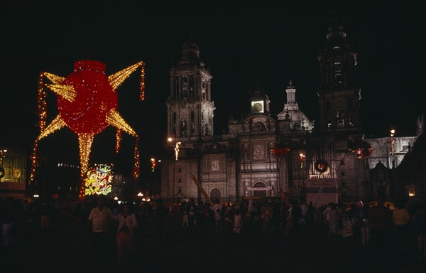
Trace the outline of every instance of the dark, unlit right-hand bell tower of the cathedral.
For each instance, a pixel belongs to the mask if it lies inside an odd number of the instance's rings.
[[[319,97],[321,129],[361,127],[361,87],[356,79],[356,52],[346,43],[346,32],[334,16],[327,45],[317,57],[320,65]]]

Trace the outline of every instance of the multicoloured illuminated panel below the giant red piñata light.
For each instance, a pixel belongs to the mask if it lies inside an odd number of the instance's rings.
[[[104,195],[111,193],[112,190],[112,167],[106,164],[97,164],[94,168],[89,168],[87,178],[85,179],[86,196]]]

